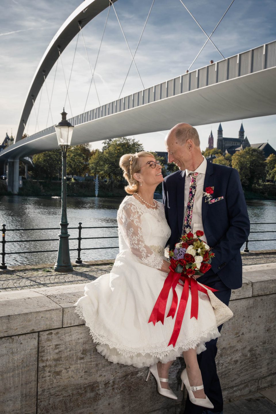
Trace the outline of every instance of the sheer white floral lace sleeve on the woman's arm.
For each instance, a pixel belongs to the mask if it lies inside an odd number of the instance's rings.
[[[131,202],[126,203],[120,208],[118,223],[122,226],[125,242],[131,252],[145,265],[160,270],[163,258],[144,242],[139,208]]]

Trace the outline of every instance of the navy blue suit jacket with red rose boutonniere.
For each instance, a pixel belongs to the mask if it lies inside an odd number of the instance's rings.
[[[185,171],[177,171],[165,177],[163,181],[163,203],[171,229],[170,250],[178,243],[182,234],[185,176]],[[207,161],[203,189],[206,187],[214,187],[213,198],[223,196],[223,200],[212,204],[205,202],[205,198],[202,197],[204,235],[215,253],[212,268],[206,276],[217,273],[228,288],[238,289],[242,286],[240,248],[250,232],[239,173],[235,168]],[[202,239],[204,240],[204,236]]]

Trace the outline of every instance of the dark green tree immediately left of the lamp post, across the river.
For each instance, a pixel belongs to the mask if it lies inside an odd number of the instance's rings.
[[[60,149],[54,149],[53,151],[35,154],[33,162],[35,169],[32,171],[32,176],[52,179],[59,176],[61,172],[61,151]]]

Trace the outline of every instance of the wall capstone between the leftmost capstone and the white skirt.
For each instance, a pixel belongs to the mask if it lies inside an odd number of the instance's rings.
[[[95,277],[96,279],[96,277]],[[88,281],[89,283],[91,281]],[[84,321],[75,313],[74,303],[84,296],[84,286],[86,283],[72,284],[69,286],[53,286],[48,288],[36,289],[51,301],[57,303],[63,309],[62,326],[83,325]]]

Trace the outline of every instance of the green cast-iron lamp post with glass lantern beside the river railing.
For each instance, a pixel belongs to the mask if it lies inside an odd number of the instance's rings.
[[[66,154],[67,149],[71,144],[72,133],[74,126],[66,119],[67,113],[63,108],[61,113],[62,120],[55,125],[55,132],[58,137],[58,145],[62,154],[62,190],[61,190],[61,221],[60,233],[58,235],[58,257],[54,266],[55,272],[72,272],[73,267],[70,260],[69,251],[69,236],[67,231],[67,206],[66,206]]]

